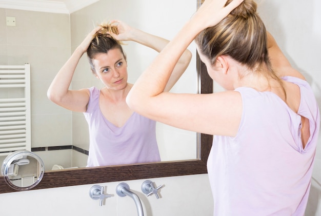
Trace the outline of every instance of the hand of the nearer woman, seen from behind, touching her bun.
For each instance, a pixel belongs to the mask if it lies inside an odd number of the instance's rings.
[[[227,1],[228,0],[205,0],[192,18],[197,19],[197,22],[202,25],[204,29],[215,26],[244,0],[232,0],[230,4],[225,7]]]

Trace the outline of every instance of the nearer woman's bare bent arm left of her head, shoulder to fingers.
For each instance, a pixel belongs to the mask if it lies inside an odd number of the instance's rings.
[[[238,92],[173,94],[164,90],[176,62],[194,37],[203,29],[216,25],[241,2],[234,0],[224,7],[225,0],[206,0],[136,81],[127,96],[130,108],[174,127],[208,134],[235,135],[242,113]]]

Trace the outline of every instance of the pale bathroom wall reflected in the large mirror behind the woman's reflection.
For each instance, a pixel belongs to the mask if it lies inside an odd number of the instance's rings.
[[[0,10],[4,11],[1,14],[14,16],[16,19],[15,27],[0,26],[4,30],[2,34],[8,38],[4,53],[6,61],[0,61],[0,64],[23,65],[28,62],[31,66],[31,151],[43,159],[45,170],[49,171],[87,165],[89,134],[83,113],[71,112],[53,104],[47,99],[46,93],[59,68],[88,32],[97,24],[119,19],[170,40],[195,12],[196,3],[195,0],[101,0],[70,15]],[[40,22],[41,20],[46,22]],[[128,82],[134,83],[157,52],[134,42],[126,42],[124,50],[128,60]],[[193,58],[188,72],[183,74],[172,92],[197,93],[194,45],[191,45],[190,50]],[[76,69],[71,88],[91,86],[102,88],[102,83],[91,73],[84,55]],[[197,158],[195,132],[157,123],[156,136],[162,161]],[[5,156],[0,156],[0,162]]]

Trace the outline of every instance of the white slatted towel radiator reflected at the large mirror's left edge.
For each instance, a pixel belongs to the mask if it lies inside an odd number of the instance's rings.
[[[30,65],[0,65],[0,156],[31,150]]]

